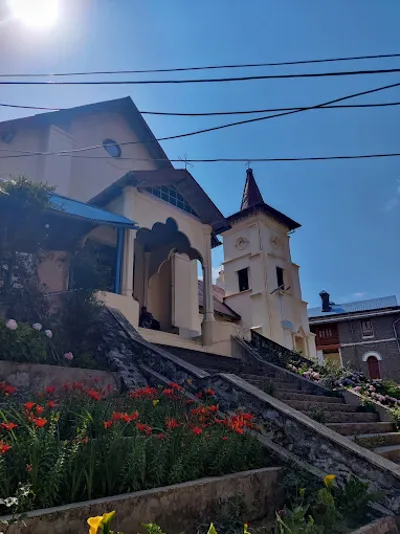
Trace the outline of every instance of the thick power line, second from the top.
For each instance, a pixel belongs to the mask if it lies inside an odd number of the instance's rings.
[[[188,83],[228,83],[255,80],[278,80],[291,78],[326,78],[336,76],[360,76],[370,74],[394,74],[400,69],[370,69],[329,72],[303,72],[295,74],[260,74],[255,76],[237,76],[229,78],[191,78],[184,80],[83,80],[83,81],[0,81],[0,85],[179,85]]]

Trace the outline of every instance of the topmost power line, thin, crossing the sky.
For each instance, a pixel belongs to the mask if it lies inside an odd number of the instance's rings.
[[[160,72],[187,72],[197,70],[212,70],[212,69],[242,69],[253,67],[278,67],[284,65],[307,65],[313,63],[334,63],[339,61],[360,61],[365,59],[389,59],[400,57],[400,54],[375,54],[368,56],[347,56],[327,59],[306,59],[298,61],[278,61],[271,63],[241,63],[229,65],[206,65],[201,67],[176,67],[168,69],[136,69],[136,70],[103,70],[103,71],[86,71],[86,72],[52,72],[52,73],[21,73],[21,74],[0,74],[0,78],[31,78],[31,77],[62,77],[62,76],[97,76],[97,75],[113,75],[113,74],[146,74],[146,73],[160,73]]]

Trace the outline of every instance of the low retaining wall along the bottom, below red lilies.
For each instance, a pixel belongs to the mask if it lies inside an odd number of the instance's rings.
[[[246,521],[272,518],[283,504],[281,470],[276,467],[205,478],[174,486],[106,497],[47,510],[13,525],[7,534],[87,534],[87,518],[116,511],[115,532],[143,532],[142,523],[156,522],[168,534],[196,533],[200,523],[215,521],[224,502],[241,495]]]

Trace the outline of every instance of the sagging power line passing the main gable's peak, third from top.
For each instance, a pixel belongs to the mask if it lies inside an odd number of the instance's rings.
[[[322,108],[316,108],[320,110],[325,109],[356,109],[356,108],[379,108],[379,107],[394,107],[400,106],[400,102],[377,102],[372,104],[343,104],[343,105],[332,105],[324,106]],[[40,111],[68,111],[71,108],[46,108],[40,106],[22,106],[19,104],[6,104],[0,102],[0,107],[5,108],[17,108],[17,109],[35,109]],[[207,112],[198,112],[198,113],[182,113],[177,111],[139,111],[142,115],[162,115],[167,117],[212,117],[218,115],[254,115],[256,113],[273,113],[277,111],[294,111],[297,109],[306,110],[308,108],[304,106],[296,106],[293,108],[270,108],[270,109],[251,109],[251,110],[240,110],[240,111],[207,111]],[[97,111],[93,109],[92,111]],[[98,111],[104,111],[100,109]]]

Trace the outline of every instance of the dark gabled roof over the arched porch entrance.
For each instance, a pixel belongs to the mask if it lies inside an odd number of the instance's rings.
[[[104,206],[119,196],[127,185],[138,188],[174,185],[186,202],[194,209],[203,224],[212,226],[215,234],[230,228],[227,220],[214,202],[204,192],[186,169],[161,169],[158,171],[130,171],[101,191],[90,201]]]

